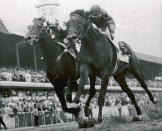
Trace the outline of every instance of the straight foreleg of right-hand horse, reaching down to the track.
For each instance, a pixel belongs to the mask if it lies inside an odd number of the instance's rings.
[[[105,94],[107,92],[108,81],[109,78],[107,76],[101,78],[101,89],[98,98],[98,105],[99,105],[98,122],[99,123],[102,122],[102,108],[105,102]]]

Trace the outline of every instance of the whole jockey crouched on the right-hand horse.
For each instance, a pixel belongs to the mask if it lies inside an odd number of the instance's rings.
[[[115,22],[113,18],[98,5],[93,5],[89,13],[90,21],[94,23],[102,33],[106,34],[111,40],[114,40]],[[118,45],[123,54],[131,55],[132,50],[127,43],[120,41]]]

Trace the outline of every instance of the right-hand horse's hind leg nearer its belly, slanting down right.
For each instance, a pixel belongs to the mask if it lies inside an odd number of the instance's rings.
[[[128,97],[131,99],[132,103],[134,104],[135,108],[136,108],[136,112],[138,115],[141,115],[141,109],[139,108],[135,97],[131,91],[131,89],[128,87],[126,80],[125,80],[125,73],[124,74],[120,74],[120,75],[116,75],[114,76],[114,79],[119,83],[120,87],[122,88],[122,90],[127,93]]]

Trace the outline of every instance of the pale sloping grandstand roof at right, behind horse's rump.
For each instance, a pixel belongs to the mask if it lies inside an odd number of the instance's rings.
[[[135,53],[140,60],[157,63],[157,64],[162,64],[162,58],[160,58],[160,57],[155,57],[155,56],[151,56],[151,55],[147,55],[147,54],[143,54],[143,53],[139,53],[139,52],[135,52]]]

